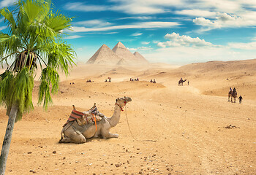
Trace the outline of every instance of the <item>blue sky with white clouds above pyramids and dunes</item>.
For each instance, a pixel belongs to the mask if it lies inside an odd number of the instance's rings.
[[[15,0],[0,1],[0,8]],[[53,0],[74,17],[64,39],[79,62],[122,42],[151,63],[184,65],[256,58],[256,0]],[[0,30],[4,31],[4,23]]]

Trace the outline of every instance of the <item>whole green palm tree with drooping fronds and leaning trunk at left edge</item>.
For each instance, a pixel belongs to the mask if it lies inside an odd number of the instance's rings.
[[[1,175],[5,172],[14,123],[33,109],[37,64],[42,69],[38,103],[43,102],[47,109],[52,102],[50,93],[59,88],[57,71],[61,69],[67,76],[75,59],[74,50],[62,39],[72,18],[53,12],[50,0],[19,0],[14,7],[12,11],[0,9],[0,18],[8,29],[7,34],[0,31],[0,63],[8,65],[0,76],[0,104],[6,106],[9,117],[1,149]]]

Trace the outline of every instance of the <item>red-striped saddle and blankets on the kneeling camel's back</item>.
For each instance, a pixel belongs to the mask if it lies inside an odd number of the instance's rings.
[[[102,117],[105,117],[104,114],[100,113],[97,109],[96,104],[94,103],[94,106],[91,107],[91,109],[89,109],[86,112],[79,112],[75,109],[75,106],[73,105],[73,110],[67,120],[67,123],[72,122],[72,121],[77,121],[78,125],[86,125],[89,123],[96,123],[99,122],[100,120],[102,120]],[[67,125],[67,123],[65,123],[63,125],[63,127],[65,125]]]

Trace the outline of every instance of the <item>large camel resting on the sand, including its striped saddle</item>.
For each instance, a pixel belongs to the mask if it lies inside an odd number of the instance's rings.
[[[87,112],[78,112],[75,110],[75,106],[73,106],[74,109],[69,117],[69,119],[72,120],[68,120],[67,123],[65,123],[61,131],[61,139],[59,143],[72,142],[83,144],[86,142],[86,139],[92,137],[102,137],[103,139],[117,138],[118,134],[110,133],[110,128],[113,128],[118,124],[120,113],[129,101],[132,101],[132,98],[126,96],[117,98],[113,115],[110,118],[105,117],[104,114],[98,112],[95,104]],[[98,115],[98,117],[100,116],[99,120],[96,120],[96,115]]]

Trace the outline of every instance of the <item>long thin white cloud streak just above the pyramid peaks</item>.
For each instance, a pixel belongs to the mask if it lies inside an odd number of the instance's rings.
[[[86,27],[78,27],[73,26],[70,32],[88,32],[88,31],[110,31],[110,30],[119,30],[125,28],[173,28],[178,26],[178,23],[175,22],[144,22],[144,23],[133,23],[129,25],[121,25],[121,26],[108,26],[102,28],[86,28]]]

